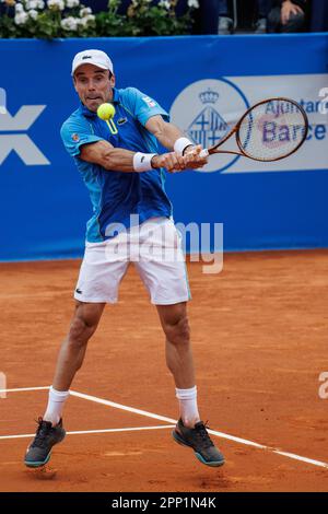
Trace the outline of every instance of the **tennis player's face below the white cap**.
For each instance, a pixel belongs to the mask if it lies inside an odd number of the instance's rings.
[[[101,104],[110,102],[115,77],[109,79],[109,71],[93,65],[80,66],[73,77],[75,91],[82,102],[94,113]]]

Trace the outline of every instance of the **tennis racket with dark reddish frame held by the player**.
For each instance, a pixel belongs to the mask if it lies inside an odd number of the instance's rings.
[[[244,155],[255,161],[279,161],[296,152],[306,140],[308,119],[303,107],[290,98],[268,98],[250,107],[216,144],[200,152]],[[235,136],[238,151],[221,150]]]

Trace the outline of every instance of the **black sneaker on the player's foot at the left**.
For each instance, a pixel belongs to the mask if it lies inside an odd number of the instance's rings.
[[[60,443],[66,435],[62,428],[62,420],[56,427],[49,421],[38,418],[38,428],[32,443],[30,444],[24,464],[28,468],[37,468],[48,463],[51,456],[51,448]]]

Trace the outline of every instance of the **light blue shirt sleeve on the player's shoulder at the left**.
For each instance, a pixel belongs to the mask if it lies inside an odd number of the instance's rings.
[[[80,155],[82,144],[102,141],[102,138],[92,133],[92,127],[85,119],[68,119],[63,122],[60,136],[68,153],[74,157]]]

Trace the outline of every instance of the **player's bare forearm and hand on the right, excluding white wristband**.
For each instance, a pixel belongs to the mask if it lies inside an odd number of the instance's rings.
[[[174,151],[176,141],[185,139],[184,133],[175,125],[167,122],[161,115],[154,115],[145,122],[145,128],[149,130],[160,143],[167,150]],[[199,154],[202,150],[201,144],[186,145],[183,152],[183,160],[186,167],[198,168],[208,163],[207,157],[200,157]]]

